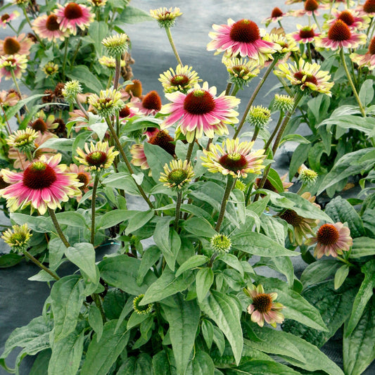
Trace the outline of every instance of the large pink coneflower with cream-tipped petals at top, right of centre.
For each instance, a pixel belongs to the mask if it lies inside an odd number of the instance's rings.
[[[277,48],[262,39],[258,25],[251,20],[234,22],[229,18],[228,25],[212,25],[212,28],[215,32],[208,34],[213,39],[207,45],[208,51],[227,51],[230,56],[240,54],[241,57],[264,61],[267,60],[264,55],[271,54]]]

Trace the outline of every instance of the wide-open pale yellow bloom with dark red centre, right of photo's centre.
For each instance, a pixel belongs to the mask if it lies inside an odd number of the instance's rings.
[[[203,150],[201,159],[204,167],[212,173],[220,172],[226,176],[246,178],[248,173],[260,174],[265,167],[265,150],[250,152],[254,142],[241,142],[239,139],[227,139],[220,144],[210,144],[210,151]]]

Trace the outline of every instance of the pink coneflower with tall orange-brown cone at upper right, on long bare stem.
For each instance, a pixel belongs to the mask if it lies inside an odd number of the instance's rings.
[[[326,37],[317,37],[317,47],[327,49],[356,48],[366,43],[366,34],[351,32],[343,20],[336,20],[329,27]]]

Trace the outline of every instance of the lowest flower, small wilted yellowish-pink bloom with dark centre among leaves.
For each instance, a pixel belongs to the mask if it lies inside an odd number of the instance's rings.
[[[263,326],[265,321],[276,328],[277,323],[284,322],[284,315],[280,310],[284,309],[284,305],[274,302],[277,298],[277,293],[265,293],[262,285],[245,289],[246,294],[253,299],[253,303],[248,305],[248,313],[251,314],[251,321]]]

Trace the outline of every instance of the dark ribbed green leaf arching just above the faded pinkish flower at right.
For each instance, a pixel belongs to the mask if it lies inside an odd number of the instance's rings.
[[[332,217],[333,222],[348,223],[350,236],[352,236],[353,239],[366,235],[360,215],[358,215],[355,208],[353,208],[346,199],[341,198],[341,196],[333,198],[328,205],[326,205],[325,211],[327,215]]]

